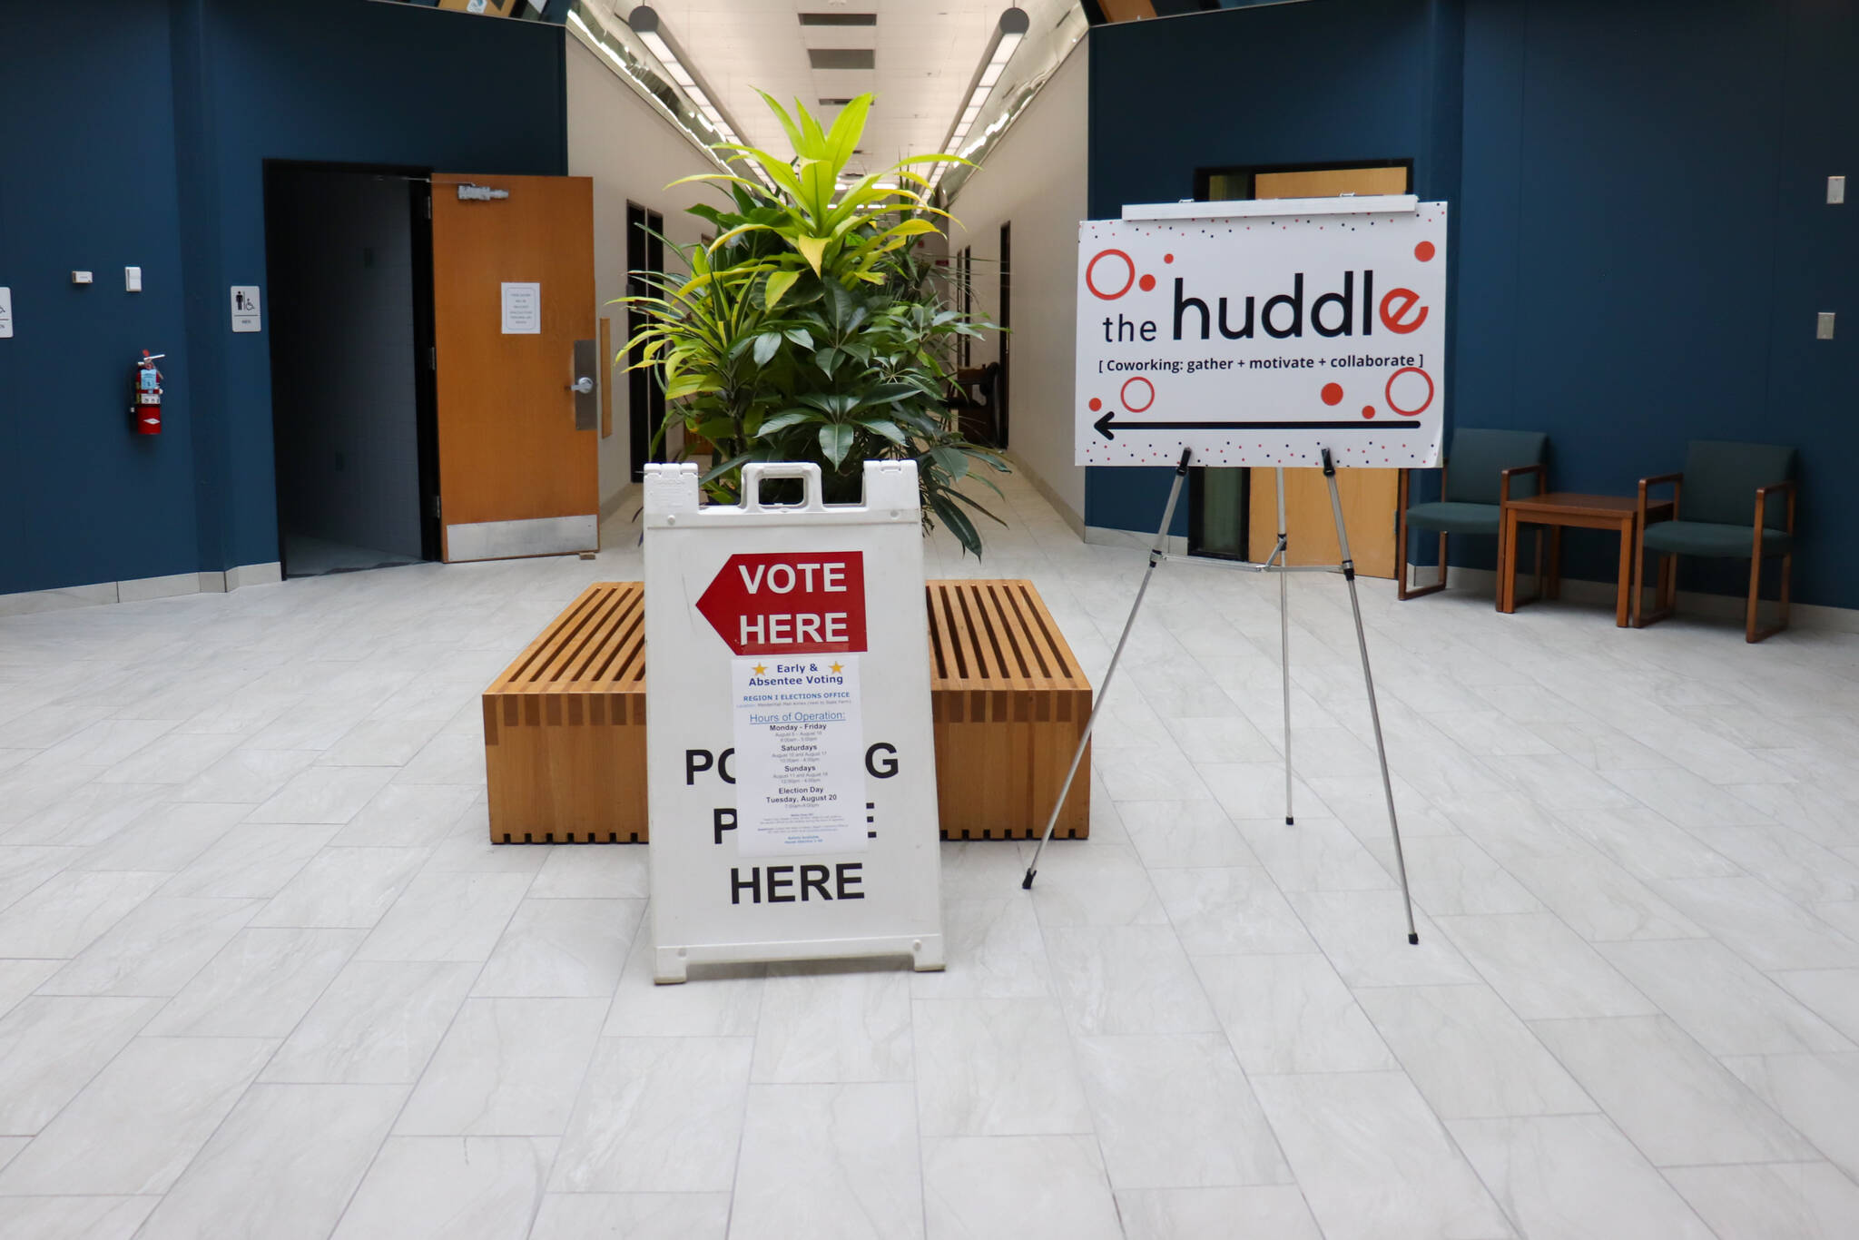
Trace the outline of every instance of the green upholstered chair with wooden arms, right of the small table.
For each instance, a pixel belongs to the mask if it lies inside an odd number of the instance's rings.
[[[1647,487],[1671,483],[1671,521],[1645,522]],[[1664,556],[1655,582],[1653,610],[1641,613],[1647,552]],[[1677,599],[1679,556],[1749,561],[1749,599],[1744,640],[1760,641],[1788,627],[1788,576],[1794,571],[1794,448],[1694,439],[1684,450],[1682,474],[1640,480],[1640,548],[1632,569],[1634,627],[1671,615]],[[1781,619],[1757,628],[1762,561],[1781,556]]]

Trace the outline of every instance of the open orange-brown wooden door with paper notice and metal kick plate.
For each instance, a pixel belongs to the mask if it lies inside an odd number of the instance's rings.
[[[446,561],[599,548],[595,312],[591,178],[433,175]]]

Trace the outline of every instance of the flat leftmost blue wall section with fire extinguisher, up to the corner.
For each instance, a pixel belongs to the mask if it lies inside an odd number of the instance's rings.
[[[0,593],[201,567],[169,65],[165,6],[0,6],[15,320],[0,340]],[[138,264],[147,292],[128,294]],[[73,286],[73,270],[97,283]],[[130,433],[141,350],[171,353],[160,439]]]

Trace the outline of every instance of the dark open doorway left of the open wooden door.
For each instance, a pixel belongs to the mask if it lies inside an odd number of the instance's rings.
[[[426,177],[405,167],[266,164],[284,576],[439,556]]]

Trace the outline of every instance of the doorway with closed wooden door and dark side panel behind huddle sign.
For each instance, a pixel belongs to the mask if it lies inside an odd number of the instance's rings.
[[[1337,197],[1342,193],[1411,193],[1413,160],[1348,164],[1275,164],[1268,167],[1203,167],[1193,177],[1201,203],[1234,199]],[[1253,487],[1253,476],[1260,485]],[[1363,576],[1394,574],[1396,470],[1338,470],[1344,528]],[[1316,470],[1286,470],[1285,508],[1292,534],[1290,563],[1335,563],[1337,534],[1329,493]],[[1193,468],[1188,472],[1188,554],[1221,560],[1264,560],[1277,537],[1277,487],[1272,470]],[[1383,521],[1385,515],[1385,521]],[[1270,526],[1270,528],[1268,528]]]

